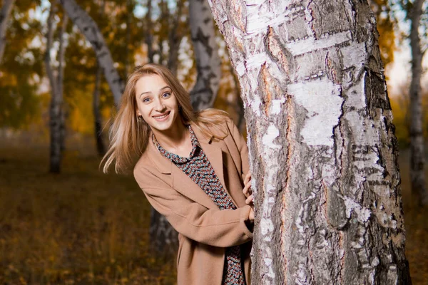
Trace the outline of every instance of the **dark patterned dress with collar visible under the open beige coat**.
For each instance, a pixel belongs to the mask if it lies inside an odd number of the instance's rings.
[[[222,209],[236,209],[232,199],[225,192],[223,185],[214,172],[210,161],[205,156],[202,147],[200,147],[198,139],[190,130],[190,139],[192,140],[192,151],[189,157],[181,157],[175,155],[168,150],[165,150],[153,135],[153,143],[158,147],[158,150],[169,160],[171,160],[180,170],[183,170],[185,175],[188,175],[218,206]],[[228,247],[225,250],[225,267],[223,270],[223,285],[244,285],[243,266],[240,257],[240,247]]]

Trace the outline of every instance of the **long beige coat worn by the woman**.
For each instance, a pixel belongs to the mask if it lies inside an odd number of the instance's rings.
[[[228,120],[221,128],[224,140],[206,138],[193,126],[205,155],[238,209],[220,211],[214,202],[149,140],[134,167],[134,177],[148,201],[178,231],[178,285],[220,285],[225,247],[238,244],[243,255],[245,280],[250,284],[250,250],[253,233],[248,222],[243,177],[248,172],[248,147],[238,128]]]

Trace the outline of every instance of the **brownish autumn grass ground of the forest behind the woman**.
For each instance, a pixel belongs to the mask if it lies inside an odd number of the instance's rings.
[[[0,284],[175,284],[175,257],[150,252],[150,208],[132,175],[99,171],[91,138],[66,149],[52,175],[46,142],[0,140]],[[415,206],[408,157],[400,152],[406,254],[422,285],[428,209]]]

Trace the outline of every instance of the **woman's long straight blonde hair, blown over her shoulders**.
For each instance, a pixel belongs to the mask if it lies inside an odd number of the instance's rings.
[[[193,111],[189,93],[165,66],[155,63],[137,66],[133,73],[128,76],[118,113],[108,134],[110,145],[100,163],[104,173],[108,172],[108,168],[112,164],[114,164],[116,173],[129,172],[136,160],[146,151],[151,129],[144,120],[138,122],[136,83],[141,77],[153,74],[161,76],[173,91],[178,104],[181,106],[180,118],[185,125],[194,123],[203,135],[211,137],[214,133],[210,128],[218,128],[220,123],[229,118],[227,112],[213,108],[198,112]],[[225,133],[223,138],[226,135]]]

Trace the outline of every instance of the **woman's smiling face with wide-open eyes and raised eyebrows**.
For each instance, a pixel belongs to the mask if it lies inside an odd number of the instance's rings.
[[[152,130],[173,130],[177,120],[178,101],[173,90],[157,74],[146,75],[136,82],[137,115],[142,116]]]

